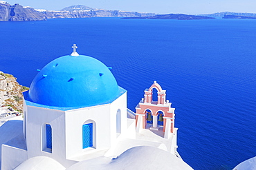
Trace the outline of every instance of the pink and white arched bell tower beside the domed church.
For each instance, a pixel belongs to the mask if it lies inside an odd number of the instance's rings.
[[[153,89],[157,90],[157,101],[153,100]],[[169,138],[170,134],[174,133],[174,110],[172,103],[166,100],[166,90],[154,81],[149,89],[145,89],[144,98],[140,100],[140,103],[136,106],[136,131],[145,129],[147,126],[147,110],[152,114],[153,123],[150,124],[150,129],[158,129],[158,111],[162,112],[163,116],[163,131],[165,132],[165,138]]]

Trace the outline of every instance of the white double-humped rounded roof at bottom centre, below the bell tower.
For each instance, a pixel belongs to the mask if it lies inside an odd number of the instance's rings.
[[[134,169],[168,169],[192,170],[192,168],[167,151],[155,147],[140,146],[128,149],[116,159],[104,156],[78,162],[67,170],[100,169],[100,170],[134,170]]]

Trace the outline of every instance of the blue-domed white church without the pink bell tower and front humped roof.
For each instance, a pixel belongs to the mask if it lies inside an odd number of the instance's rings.
[[[29,169],[45,161],[48,169],[67,169],[99,156],[116,158],[141,145],[177,156],[176,130],[167,138],[159,125],[157,133],[147,126],[136,133],[127,91],[110,70],[91,56],[77,54],[75,45],[71,55],[37,70],[24,93],[23,134],[2,145],[1,168]]]

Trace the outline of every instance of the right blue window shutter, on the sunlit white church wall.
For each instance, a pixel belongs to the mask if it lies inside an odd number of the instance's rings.
[[[93,146],[93,123],[82,125],[82,148]]]

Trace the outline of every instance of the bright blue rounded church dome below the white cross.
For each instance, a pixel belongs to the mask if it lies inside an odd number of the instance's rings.
[[[90,56],[72,54],[57,58],[40,70],[30,85],[30,101],[81,107],[101,105],[118,97],[118,84],[109,67]]]

